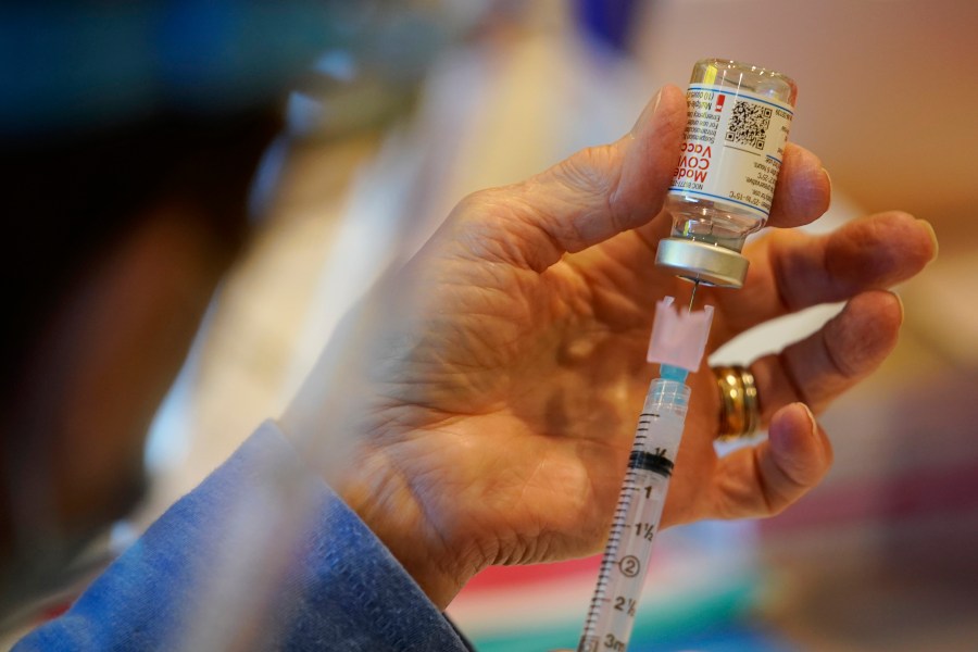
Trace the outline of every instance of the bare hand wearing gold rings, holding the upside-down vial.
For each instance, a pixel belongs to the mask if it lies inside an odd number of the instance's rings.
[[[655,373],[654,302],[690,291],[654,265],[685,120],[681,91],[666,87],[617,142],[465,199],[350,317],[364,344],[342,368],[360,400],[324,403],[311,381],[284,416],[287,430],[325,427],[328,404],[333,423],[362,434],[335,484],[439,606],[490,564],[601,549]],[[817,158],[789,147],[769,224],[811,222],[828,201]],[[831,449],[801,402],[817,412],[887,355],[902,309],[881,288],[933,248],[929,227],[900,213],[827,237],[775,231],[745,250],[742,290],[701,289],[698,302],[716,306],[707,352],[779,315],[849,302],[754,364],[769,429],[754,448],[717,457],[717,390],[709,369],[690,376],[664,525],[774,514],[819,480]]]

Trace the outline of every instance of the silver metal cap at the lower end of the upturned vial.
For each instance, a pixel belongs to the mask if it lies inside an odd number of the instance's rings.
[[[750,263],[740,253],[717,244],[666,238],[659,242],[655,264],[690,280],[740,288]]]

